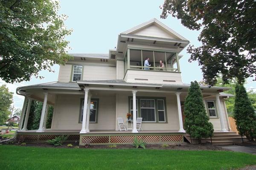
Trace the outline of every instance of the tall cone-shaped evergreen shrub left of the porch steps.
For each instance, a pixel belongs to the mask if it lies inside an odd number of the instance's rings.
[[[201,143],[202,138],[213,134],[213,125],[204,107],[203,96],[198,82],[191,82],[188,95],[184,103],[185,130]]]

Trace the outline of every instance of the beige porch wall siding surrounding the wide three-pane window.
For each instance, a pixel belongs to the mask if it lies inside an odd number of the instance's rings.
[[[126,120],[126,114],[130,112],[128,110],[128,96],[132,96],[131,92],[119,92],[116,94],[116,118],[122,117]],[[136,96],[152,96],[152,97],[166,97],[166,109],[167,109],[167,122],[168,123],[142,123],[143,130],[178,130],[178,111],[177,111],[177,99],[175,94],[157,94],[157,93],[142,93],[137,92]],[[130,126],[131,124],[129,124]],[[118,128],[116,122],[116,130]]]

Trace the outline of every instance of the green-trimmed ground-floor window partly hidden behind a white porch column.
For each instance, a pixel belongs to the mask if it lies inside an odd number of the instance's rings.
[[[92,99],[90,102],[90,123],[97,122],[97,114],[98,114],[98,99]],[[84,112],[84,100],[81,102],[81,116],[80,116],[80,123],[83,121],[83,112]]]

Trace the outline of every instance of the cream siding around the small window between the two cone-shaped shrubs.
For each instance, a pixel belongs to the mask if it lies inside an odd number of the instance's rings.
[[[216,105],[216,107],[218,107],[215,98],[209,98],[209,99],[206,99],[206,101],[207,100],[215,101],[215,105]],[[220,102],[221,102],[221,111],[223,114],[225,129],[229,130],[227,116],[226,116],[226,109],[224,106],[224,100],[221,97],[220,97]],[[219,114],[219,112],[218,112],[218,114]],[[212,123],[214,130],[221,130],[221,121],[220,121],[219,116],[218,116],[218,118],[210,118],[210,122]]]

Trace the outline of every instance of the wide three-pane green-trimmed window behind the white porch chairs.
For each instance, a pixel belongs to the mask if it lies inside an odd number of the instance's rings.
[[[132,113],[133,99],[129,96],[129,111]],[[137,117],[142,117],[143,122],[159,122],[166,121],[166,99],[164,97],[136,97]]]

